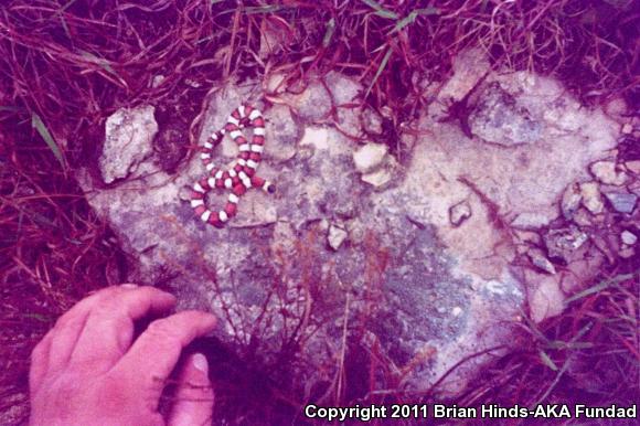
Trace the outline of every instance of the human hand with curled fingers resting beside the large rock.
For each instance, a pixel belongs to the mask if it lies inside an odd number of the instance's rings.
[[[31,355],[31,425],[204,425],[213,391],[206,359],[191,355],[179,376],[168,420],[158,413],[167,377],[182,349],[211,331],[210,313],[158,319],[134,341],[135,321],[167,312],[170,294],[153,287],[109,287],[64,313]]]

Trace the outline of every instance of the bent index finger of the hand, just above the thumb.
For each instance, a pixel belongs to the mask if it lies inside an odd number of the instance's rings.
[[[158,401],[166,379],[171,374],[182,350],[195,338],[215,327],[215,317],[201,311],[182,311],[151,324],[114,366],[111,373],[136,381]]]

